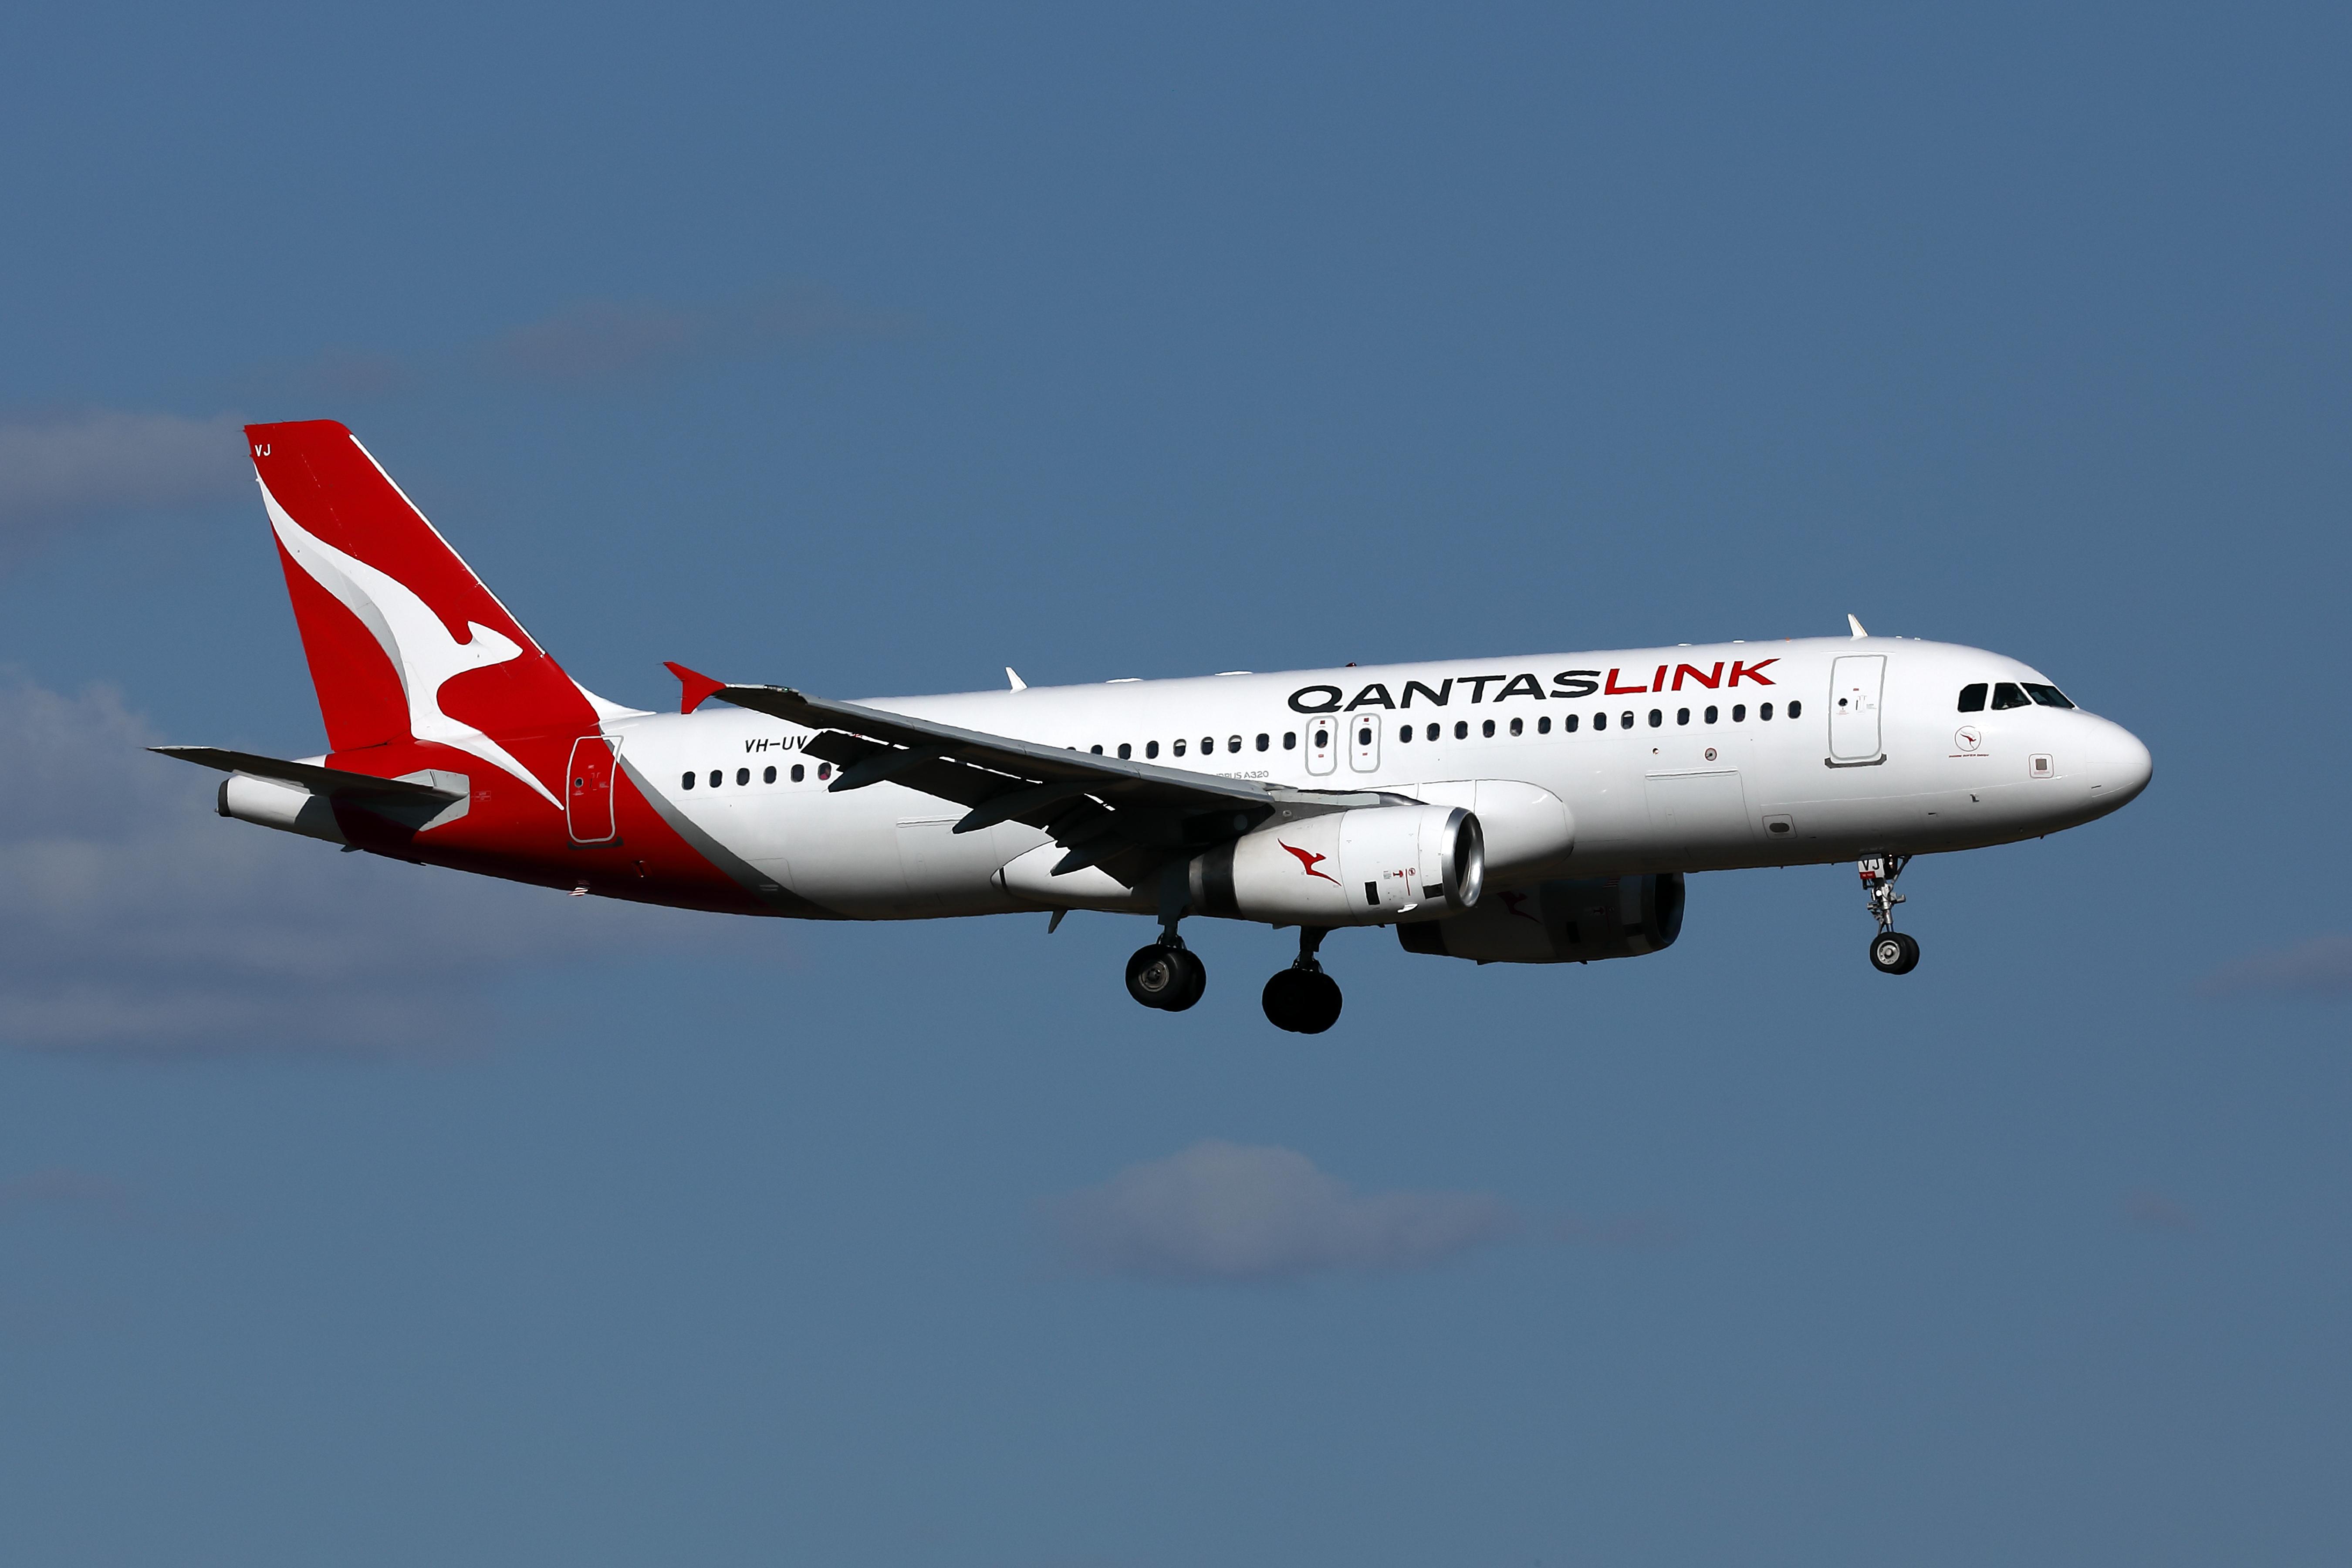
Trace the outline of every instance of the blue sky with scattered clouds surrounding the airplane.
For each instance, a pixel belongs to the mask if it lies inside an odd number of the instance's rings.
[[[12,21],[9,1556],[2343,1561],[2347,33]],[[1900,983],[1719,875],[1341,933],[1315,1039],[1244,926],[1169,1018],[1138,922],[475,884],[139,752],[322,743],[233,433],[310,416],[642,705],[1853,611],[2157,780],[1915,865]]]

